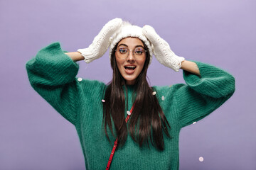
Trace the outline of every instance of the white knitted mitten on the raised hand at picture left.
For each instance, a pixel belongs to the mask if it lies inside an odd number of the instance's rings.
[[[85,62],[90,63],[93,60],[102,57],[110,46],[110,37],[122,25],[121,18],[114,18],[100,30],[100,33],[94,38],[92,44],[84,49],[78,49],[78,52],[85,57]]]

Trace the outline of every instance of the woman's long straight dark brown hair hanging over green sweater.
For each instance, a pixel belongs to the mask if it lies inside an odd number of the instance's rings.
[[[143,41],[142,41],[143,42]],[[144,42],[143,42],[144,44]],[[118,43],[117,43],[118,45]],[[113,77],[110,84],[107,86],[105,92],[105,103],[103,103],[103,123],[105,125],[105,134],[110,141],[110,137],[107,133],[107,126],[113,136],[118,137],[118,146],[124,145],[127,140],[128,129],[125,123],[124,111],[125,111],[125,97],[122,86],[125,85],[125,79],[117,68],[117,61],[115,58],[115,51],[117,45],[112,50],[111,55],[111,67],[113,69]],[[146,52],[146,61],[142,72],[137,77],[134,84],[134,93],[136,98],[134,101],[134,110],[129,118],[128,127],[129,134],[132,140],[139,143],[139,147],[142,147],[144,143],[149,146],[149,140],[151,144],[159,150],[164,149],[164,136],[163,131],[167,137],[170,137],[168,128],[171,128],[166,117],[159,105],[159,102],[155,95],[153,95],[153,89],[146,81],[146,72],[149,67],[149,52],[148,48],[144,44]],[[127,93],[127,91],[126,91]],[[112,130],[112,122],[116,134]]]

